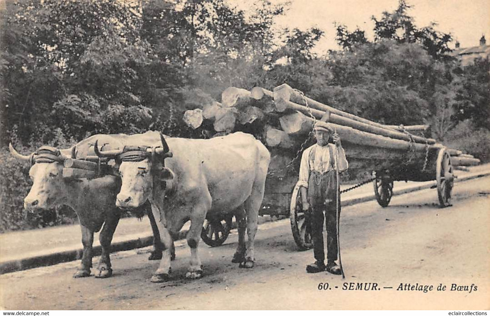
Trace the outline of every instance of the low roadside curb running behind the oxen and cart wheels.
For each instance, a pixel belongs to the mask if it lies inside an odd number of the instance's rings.
[[[466,176],[460,176],[456,178],[454,181],[455,182],[468,181],[468,180],[481,178],[489,175],[490,175],[490,170],[479,172],[479,173],[471,173]],[[425,184],[415,185],[413,187],[408,187],[404,189],[393,190],[393,196],[406,194],[406,193],[423,190],[427,188],[432,188],[435,187],[435,183],[436,181],[432,181],[431,183],[425,183]],[[358,196],[358,197],[354,196],[352,198],[346,199],[342,201],[341,205],[348,206],[348,205],[368,202],[372,200],[376,200],[374,194],[366,194],[363,196]],[[273,219],[270,216],[259,217],[259,224],[263,224],[271,221],[273,221]],[[187,234],[187,230],[180,231],[175,240],[184,239],[186,234]],[[143,238],[117,242],[111,245],[111,253],[117,251],[131,250],[135,248],[143,248],[143,247],[151,246],[152,243],[153,243],[153,236],[147,236]],[[100,246],[95,246],[93,248],[94,256],[100,255],[101,250],[102,248]],[[37,267],[51,266],[62,262],[80,260],[82,254],[83,254],[83,248],[77,248],[73,250],[53,252],[46,255],[38,255],[38,256],[27,257],[18,260],[0,262],[0,274],[22,271],[22,270],[27,270],[27,269],[37,268]]]

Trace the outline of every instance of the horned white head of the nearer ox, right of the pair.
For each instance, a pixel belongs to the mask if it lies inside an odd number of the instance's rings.
[[[160,133],[161,146],[124,146],[123,149],[100,152],[99,157],[115,158],[121,176],[121,191],[116,206],[134,208],[145,203],[161,181],[172,180],[173,172],[165,167],[165,158],[172,157],[164,136]],[[161,192],[164,194],[164,192]]]

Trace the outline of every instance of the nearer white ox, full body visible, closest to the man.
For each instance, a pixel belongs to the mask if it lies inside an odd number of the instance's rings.
[[[171,236],[188,220],[191,221],[187,233],[191,260],[186,277],[199,278],[202,266],[197,245],[203,222],[232,212],[241,219],[239,244],[232,261],[240,263],[240,267],[252,268],[257,217],[270,162],[267,148],[252,135],[240,132],[211,139],[165,139],[161,135],[161,142],[150,148],[138,148],[142,143],[132,140],[125,142],[124,150],[106,153],[96,150],[96,153],[122,160],[117,206],[138,207],[147,200],[151,203],[164,248],[160,266],[151,281],[169,279]]]

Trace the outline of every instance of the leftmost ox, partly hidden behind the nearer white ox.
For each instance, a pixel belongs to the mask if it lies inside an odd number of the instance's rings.
[[[73,208],[78,216],[82,230],[83,255],[81,265],[77,268],[73,277],[85,277],[90,275],[92,267],[92,244],[94,232],[102,231],[99,241],[102,254],[98,263],[98,278],[112,275],[111,262],[109,258],[110,245],[116,226],[118,225],[121,210],[116,203],[116,195],[121,187],[118,177],[104,176],[92,180],[63,178],[63,161],[66,158],[85,158],[94,156],[96,140],[104,144],[104,148],[119,148],[126,139],[137,137],[139,141],[154,143],[160,140],[159,135],[153,133],[140,135],[93,135],[88,137],[69,149],[57,150],[56,148],[43,146],[29,156],[21,155],[9,145],[11,154],[23,161],[32,162],[29,176],[33,181],[29,194],[25,197],[24,207],[26,210],[50,209],[58,205],[68,205]],[[142,205],[140,216],[145,213],[147,205]],[[149,207],[147,207],[149,208]],[[151,212],[147,212],[152,224],[155,240],[159,240],[158,230]],[[150,260],[161,258],[160,243],[154,245]]]

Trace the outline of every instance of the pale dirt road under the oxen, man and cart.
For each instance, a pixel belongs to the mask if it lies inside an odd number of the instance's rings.
[[[131,250],[112,255],[109,279],[73,279],[78,262],[3,274],[0,305],[9,310],[489,309],[489,194],[485,177],[458,183],[453,206],[443,209],[434,189],[395,196],[386,208],[376,202],[344,207],[345,279],[305,272],[312,250],[296,250],[286,219],[259,226],[252,270],[231,263],[233,231],[221,247],[199,245],[205,273],[200,280],[184,278],[190,255],[179,241],[167,283],[150,283],[158,262],[147,261],[145,250]],[[328,289],[319,290],[320,282]],[[440,284],[445,291],[437,290]],[[417,291],[420,286],[427,286],[427,293]]]

